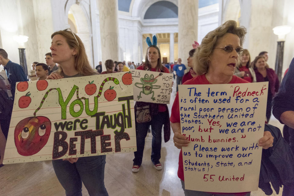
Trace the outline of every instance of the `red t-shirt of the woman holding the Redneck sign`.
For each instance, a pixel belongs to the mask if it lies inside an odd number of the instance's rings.
[[[229,82],[229,84],[238,84],[238,83],[249,83],[249,82],[233,75],[233,78]],[[209,84],[209,81],[206,79],[205,74],[203,74],[201,76],[193,77],[192,79],[183,83],[183,85],[208,85],[208,84]],[[171,121],[171,123],[180,123],[179,92],[177,92],[177,95],[175,96],[174,104],[172,105],[172,108],[171,108],[170,121]],[[183,167],[182,149],[179,154],[178,177],[184,181],[184,167]],[[215,193],[215,194],[219,194],[219,193]],[[226,194],[228,194],[228,193],[226,193]],[[246,193],[238,193],[236,195],[241,196],[244,194],[246,194]]]

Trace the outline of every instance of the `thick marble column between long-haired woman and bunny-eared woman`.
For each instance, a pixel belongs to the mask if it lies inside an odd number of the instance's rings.
[[[107,59],[119,59],[119,25],[117,0],[98,0],[102,65]],[[102,70],[105,70],[103,66]]]

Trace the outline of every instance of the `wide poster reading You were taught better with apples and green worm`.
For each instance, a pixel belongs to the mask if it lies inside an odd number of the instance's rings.
[[[129,76],[17,83],[3,163],[136,151]]]

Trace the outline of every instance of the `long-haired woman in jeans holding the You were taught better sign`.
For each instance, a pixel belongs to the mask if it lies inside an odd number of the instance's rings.
[[[70,29],[51,35],[52,60],[59,63],[58,70],[47,79],[81,77],[97,74],[88,61],[84,44]],[[105,195],[105,155],[52,160],[55,174],[66,195],[82,195],[82,182],[89,195]]]

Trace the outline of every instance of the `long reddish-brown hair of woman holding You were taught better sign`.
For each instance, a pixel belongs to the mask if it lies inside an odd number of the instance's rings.
[[[91,67],[88,57],[86,55],[85,46],[79,36],[72,32],[70,29],[65,29],[62,31],[54,32],[51,35],[51,39],[55,35],[62,35],[66,39],[66,43],[69,45],[70,48],[75,48],[77,53],[74,55],[74,68],[79,72],[79,74],[83,76],[90,76],[98,74],[96,71],[93,70]],[[58,66],[57,73],[63,75],[62,65]]]

